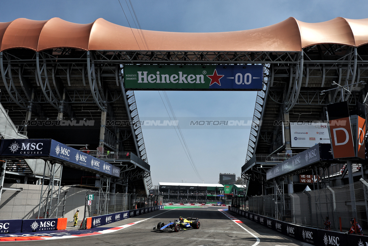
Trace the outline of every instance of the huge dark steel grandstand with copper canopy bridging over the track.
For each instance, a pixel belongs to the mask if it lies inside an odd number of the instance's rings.
[[[266,180],[266,171],[289,158],[282,152],[293,156],[306,149],[291,145],[290,122],[323,121],[330,103],[346,101],[353,110],[367,100],[367,25],[368,19],[305,23],[290,17],[252,30],[176,33],[132,29],[101,18],[90,24],[20,18],[0,23],[0,102],[27,137],[88,144],[100,158],[109,150],[107,161],[120,163],[125,175],[122,184],[148,193],[149,169],[111,155],[129,152],[147,163],[134,92],[124,88],[124,66],[261,64],[263,88],[256,97],[242,178],[248,192],[263,194],[280,185]],[[39,120],[63,122],[70,129],[33,125]],[[121,123],[131,120],[135,123]],[[350,169],[342,170],[344,164],[320,161],[301,171],[313,169],[341,184]],[[364,176],[364,165],[355,166],[361,171],[355,175]],[[291,191],[293,176],[288,183]]]

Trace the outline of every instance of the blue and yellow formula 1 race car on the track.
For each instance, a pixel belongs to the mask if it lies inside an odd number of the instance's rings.
[[[169,224],[164,224],[164,222],[159,222],[157,226],[153,226],[153,230],[155,231],[166,231],[166,232],[178,232],[180,230],[186,231],[190,229],[199,229],[201,223],[198,221],[198,218],[183,218],[179,217],[179,219],[174,220],[174,222],[169,222]]]

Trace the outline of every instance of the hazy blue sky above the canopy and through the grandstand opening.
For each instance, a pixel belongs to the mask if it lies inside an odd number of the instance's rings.
[[[0,22],[16,18],[48,20],[59,17],[75,23],[104,18],[135,27],[125,0],[12,0],[1,1]],[[168,32],[225,32],[265,27],[289,17],[322,22],[336,17],[368,18],[367,1],[343,0],[131,0],[142,29]],[[129,22],[129,23],[128,23]],[[162,94],[161,94],[162,95]],[[252,119],[256,92],[167,91],[176,117],[235,117]],[[158,91],[136,91],[141,119],[167,117]],[[186,118],[186,119],[188,119]],[[179,121],[180,125],[180,121]],[[240,176],[247,154],[249,127],[243,129],[191,129],[181,126],[195,165],[205,183],[217,183],[219,173]],[[143,127],[153,185],[158,182],[202,183],[173,128]]]

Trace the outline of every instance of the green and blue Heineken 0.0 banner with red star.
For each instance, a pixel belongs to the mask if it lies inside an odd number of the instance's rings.
[[[263,65],[125,65],[124,87],[134,90],[259,91]]]

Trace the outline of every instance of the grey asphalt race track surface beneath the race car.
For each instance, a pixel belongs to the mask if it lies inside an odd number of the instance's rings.
[[[222,212],[218,211],[219,207],[194,207],[194,208],[177,208],[173,210],[159,210],[149,214],[143,214],[124,221],[109,224],[109,228],[121,226],[123,224],[133,224],[129,227],[116,232],[85,236],[69,239],[41,240],[41,241],[20,241],[9,242],[22,245],[177,245],[183,244],[188,246],[199,245],[245,245],[245,246],[294,246],[309,244],[300,241],[294,241],[282,234],[272,231],[253,221],[239,217],[229,212],[230,215],[238,218],[235,223],[226,217]],[[226,211],[227,212],[227,211]],[[153,217],[154,216],[154,217]],[[168,223],[174,221],[179,216],[182,217],[198,217],[201,222],[201,228],[179,232],[158,232],[153,231],[154,225],[163,221]],[[140,221],[140,222],[139,222]],[[242,223],[241,223],[242,222]],[[239,226],[238,224],[241,224]],[[100,230],[104,230],[103,226]],[[245,230],[246,229],[246,230]],[[257,242],[259,238],[260,242]]]

